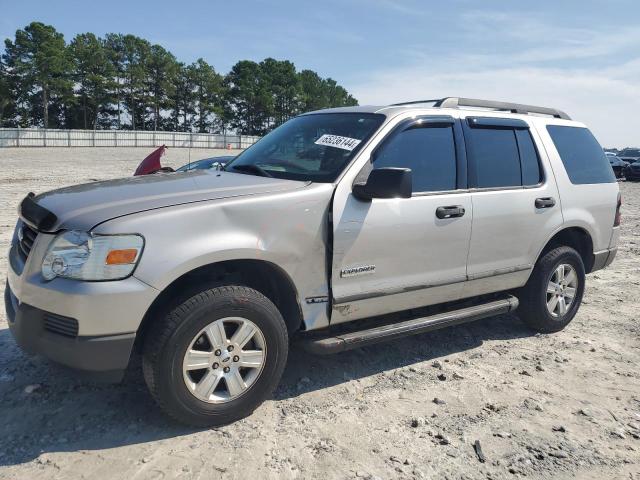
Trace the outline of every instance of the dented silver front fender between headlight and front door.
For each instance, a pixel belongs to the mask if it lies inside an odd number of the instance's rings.
[[[162,291],[197,268],[229,260],[278,266],[297,290],[307,328],[329,323],[326,262],[331,184],[226,198],[109,220],[96,233],[138,233],[145,251],[134,276]]]

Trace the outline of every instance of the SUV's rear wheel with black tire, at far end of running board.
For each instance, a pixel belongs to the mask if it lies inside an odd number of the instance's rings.
[[[563,294],[571,293],[570,287],[562,290],[562,285],[556,287],[555,293],[549,293],[547,287],[550,282],[557,280],[556,273],[561,265],[568,265],[566,272],[572,269],[576,284],[574,288],[573,298],[566,306],[565,312],[561,313],[561,301],[558,300]],[[570,275],[567,274],[567,277]],[[554,284],[558,284],[557,281]],[[545,253],[536,263],[536,266],[529,277],[527,284],[519,293],[520,307],[517,315],[530,328],[541,333],[559,332],[566,327],[573,317],[575,317],[582,302],[584,294],[585,273],[582,257],[571,247],[557,247]],[[558,296],[559,295],[559,296]],[[554,306],[552,297],[555,296],[557,303]],[[567,297],[568,298],[568,297]],[[551,301],[551,303],[548,303]],[[565,301],[566,305],[566,299]],[[554,307],[554,312],[550,308]]]

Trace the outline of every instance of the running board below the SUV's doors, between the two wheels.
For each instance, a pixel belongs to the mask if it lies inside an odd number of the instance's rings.
[[[428,317],[412,318],[411,320],[382,325],[367,330],[303,339],[301,343],[303,348],[310,353],[319,355],[339,353],[353,348],[385,342],[387,340],[430,332],[461,323],[473,322],[494,315],[501,315],[512,312],[516,308],[518,308],[518,299],[512,295],[507,295],[504,298],[471,307],[437,313]]]

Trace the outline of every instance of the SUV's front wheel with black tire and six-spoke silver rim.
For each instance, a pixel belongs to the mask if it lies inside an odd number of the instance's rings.
[[[257,332],[246,345],[239,346],[240,338],[233,352],[223,345],[233,347],[236,323],[235,333],[241,327],[248,331],[255,327]],[[227,343],[209,340],[223,338],[220,325]],[[189,298],[159,320],[144,341],[142,368],[152,397],[170,417],[196,427],[219,426],[250,415],[271,395],[282,376],[288,347],[285,322],[268,298],[247,287],[216,287]],[[187,349],[202,358],[202,369],[192,361],[195,354],[186,356]],[[243,367],[249,364],[249,355],[258,358],[255,365],[262,359],[259,371],[256,366]]]

